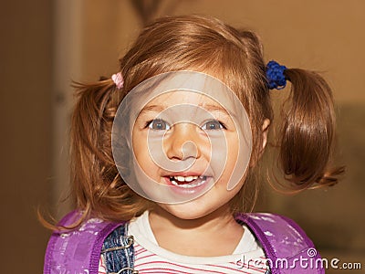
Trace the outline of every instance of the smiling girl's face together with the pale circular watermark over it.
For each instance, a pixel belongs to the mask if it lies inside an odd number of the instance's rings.
[[[175,216],[205,216],[236,195],[252,134],[240,100],[222,81],[195,71],[146,79],[127,94],[111,146],[130,188]]]

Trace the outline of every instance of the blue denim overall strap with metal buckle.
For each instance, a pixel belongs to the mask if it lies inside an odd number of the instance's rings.
[[[118,227],[104,241],[101,254],[104,255],[108,273],[138,273],[133,269],[134,239],[127,236],[127,229],[127,224]]]

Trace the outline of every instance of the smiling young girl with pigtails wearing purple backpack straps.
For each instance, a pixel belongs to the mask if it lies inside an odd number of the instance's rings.
[[[323,273],[293,221],[243,214],[273,120],[269,90],[287,80],[276,136],[286,179],[296,190],[336,184],[332,95],[318,74],[266,66],[253,32],[214,18],[146,26],[118,73],[77,85],[77,210],[51,237],[44,272]]]

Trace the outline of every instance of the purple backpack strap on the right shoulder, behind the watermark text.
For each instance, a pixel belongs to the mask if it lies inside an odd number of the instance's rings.
[[[306,233],[293,220],[268,213],[239,214],[266,253],[272,274],[325,273],[322,260]]]

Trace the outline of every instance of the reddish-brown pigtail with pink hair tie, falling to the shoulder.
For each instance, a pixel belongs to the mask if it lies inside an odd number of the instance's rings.
[[[71,183],[84,213],[75,227],[90,216],[129,220],[145,205],[120,178],[111,153],[112,123],[125,96],[122,83],[101,79],[73,86],[78,100],[71,123]]]

